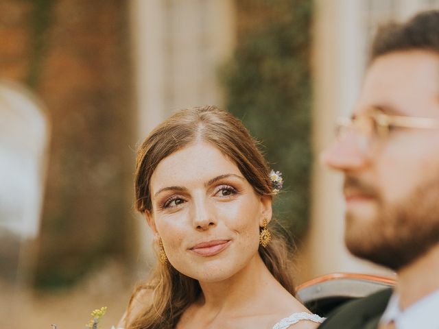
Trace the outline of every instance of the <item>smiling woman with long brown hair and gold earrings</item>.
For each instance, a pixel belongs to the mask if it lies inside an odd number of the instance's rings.
[[[121,326],[299,329],[322,321],[294,298],[285,241],[268,228],[268,166],[238,119],[214,106],[180,110],[141,145],[135,185],[160,261]]]

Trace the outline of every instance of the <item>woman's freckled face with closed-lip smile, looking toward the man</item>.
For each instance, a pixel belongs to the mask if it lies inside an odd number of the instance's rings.
[[[271,219],[271,198],[257,195],[213,145],[191,144],[164,158],[150,190],[148,223],[181,273],[216,282],[259,257],[259,226]]]

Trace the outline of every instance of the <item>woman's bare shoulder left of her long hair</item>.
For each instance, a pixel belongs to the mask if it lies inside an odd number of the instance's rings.
[[[117,328],[128,328],[134,319],[137,319],[143,312],[145,312],[145,308],[151,306],[152,292],[152,287],[147,284],[142,284],[134,289],[128,307],[121,317]]]

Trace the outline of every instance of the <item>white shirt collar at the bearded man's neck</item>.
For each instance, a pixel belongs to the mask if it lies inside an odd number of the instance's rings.
[[[438,313],[439,290],[423,297],[403,311],[399,308],[399,295],[394,293],[379,322],[388,324],[394,320],[396,329],[439,329]]]

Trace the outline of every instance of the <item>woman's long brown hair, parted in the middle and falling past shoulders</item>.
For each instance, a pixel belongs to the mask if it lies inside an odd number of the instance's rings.
[[[202,106],[176,112],[158,125],[139,148],[135,178],[135,207],[139,212],[152,212],[150,179],[158,163],[196,141],[213,144],[235,161],[257,194],[273,195],[268,164],[246,127],[224,110]],[[283,236],[272,232],[272,241],[266,248],[260,246],[259,254],[274,278],[294,295],[289,249]],[[150,280],[134,291],[130,304],[143,289],[150,291],[149,302],[127,329],[173,329],[201,293],[197,280],[178,272],[169,262],[156,266]]]

